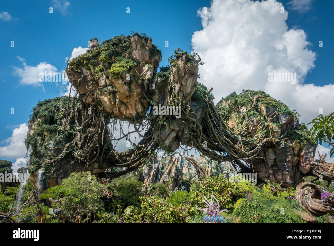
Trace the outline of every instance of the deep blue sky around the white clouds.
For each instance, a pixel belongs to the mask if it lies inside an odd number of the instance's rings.
[[[304,30],[306,40],[309,42],[308,49],[316,54],[316,59],[312,61],[314,66],[307,68],[301,84],[313,83],[314,86],[333,84],[333,1],[310,0],[306,1],[308,4],[305,6],[301,6],[300,1],[297,0],[280,2],[288,11],[286,21],[288,29]],[[224,1],[220,1],[219,4],[222,6],[226,4],[226,7],[229,7]],[[22,61],[25,62],[27,69],[29,66],[36,67],[45,62],[54,66],[57,71],[61,71],[66,66],[65,58],[71,56],[74,48],[80,46],[86,48],[89,39],[97,37],[101,42],[115,35],[130,34],[133,30],[152,36],[153,43],[162,51],[163,59],[160,65],[165,66],[168,64],[167,57],[175,49],[191,51],[194,48],[192,41],[198,44],[197,39],[192,40],[194,32],[203,29],[202,18],[198,16],[197,11],[210,6],[210,1],[204,0],[6,2],[6,5],[3,4],[0,7],[0,44],[3,49],[0,60],[2,91],[0,113],[3,116],[0,121],[0,142],[10,138],[15,128],[19,128],[21,124],[27,124],[31,109],[38,99],[50,99],[66,91],[66,86],[61,83],[56,85],[54,82],[44,82],[42,86],[23,84],[22,77],[15,69],[15,67],[24,69]],[[49,13],[49,7],[53,7],[52,14]],[[126,13],[127,7],[130,7],[130,14]],[[213,9],[211,10],[213,12]],[[235,19],[237,20],[238,17],[236,16]],[[11,47],[12,40],[15,42],[14,47]],[[166,40],[169,42],[169,47],[165,47]],[[323,41],[321,48],[319,40]],[[203,52],[200,49],[199,51]],[[208,64],[209,61],[204,60],[204,62]],[[210,81],[204,84],[224,91],[224,84],[217,86],[217,84],[210,84]],[[244,81],[242,87],[248,88],[247,81]],[[226,91],[224,94],[230,92]],[[221,96],[218,98],[220,99]],[[324,98],[319,97],[319,101],[321,100]],[[300,105],[302,104],[303,102],[300,102]],[[291,105],[294,106],[296,103]],[[14,114],[11,114],[12,107],[15,109]],[[326,110],[324,109],[326,113],[334,111],[333,108],[328,107]],[[317,113],[314,116],[317,116]],[[14,140],[11,139],[11,141]],[[11,143],[10,141],[2,142],[0,148]],[[14,155],[9,158],[4,152],[2,156],[0,155],[0,159],[11,160],[14,163],[19,158]]]

